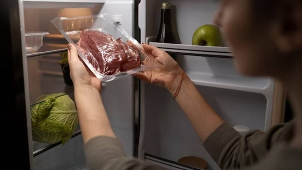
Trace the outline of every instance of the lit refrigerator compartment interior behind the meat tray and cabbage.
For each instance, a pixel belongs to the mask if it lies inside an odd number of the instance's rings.
[[[67,41],[50,22],[51,19],[108,14],[120,23],[120,27],[133,34],[132,11],[134,12],[133,2],[130,0],[111,1],[111,3],[105,3],[105,1],[75,3],[68,0],[52,3],[24,1],[25,33],[30,31],[50,33],[44,36],[43,46],[37,52],[29,53],[26,56],[31,106],[35,104],[35,100],[39,96],[50,93],[66,93],[74,100],[74,89],[64,83],[62,68],[59,64],[62,53],[67,51]],[[41,55],[40,52],[49,53]],[[133,83],[133,77],[103,83],[101,92],[112,128],[129,156],[133,156]],[[75,135],[65,145],[50,145],[33,141],[33,151],[34,168],[38,170],[66,170],[81,166],[85,168],[79,126],[75,130]]]

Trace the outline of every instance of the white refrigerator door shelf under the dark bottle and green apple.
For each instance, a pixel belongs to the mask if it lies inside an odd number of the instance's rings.
[[[215,58],[232,58],[232,53],[229,47],[210,47],[187,44],[168,44],[149,42],[150,45],[158,47],[163,51],[175,54],[193,55],[201,57],[215,57]]]

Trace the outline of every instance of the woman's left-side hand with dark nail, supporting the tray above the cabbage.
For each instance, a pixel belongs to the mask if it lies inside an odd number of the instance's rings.
[[[79,58],[74,45],[68,44],[68,63],[70,67],[70,77],[75,87],[93,87],[101,92],[101,81],[85,66]]]

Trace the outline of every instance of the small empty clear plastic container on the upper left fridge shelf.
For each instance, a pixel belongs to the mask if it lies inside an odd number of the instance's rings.
[[[48,32],[27,32],[25,33],[25,49],[26,53],[37,52],[43,45],[44,35]]]

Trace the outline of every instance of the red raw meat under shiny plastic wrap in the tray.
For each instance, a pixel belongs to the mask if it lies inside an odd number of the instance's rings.
[[[101,31],[81,31],[80,51],[101,74],[112,75],[140,67],[140,54],[120,38]]]

